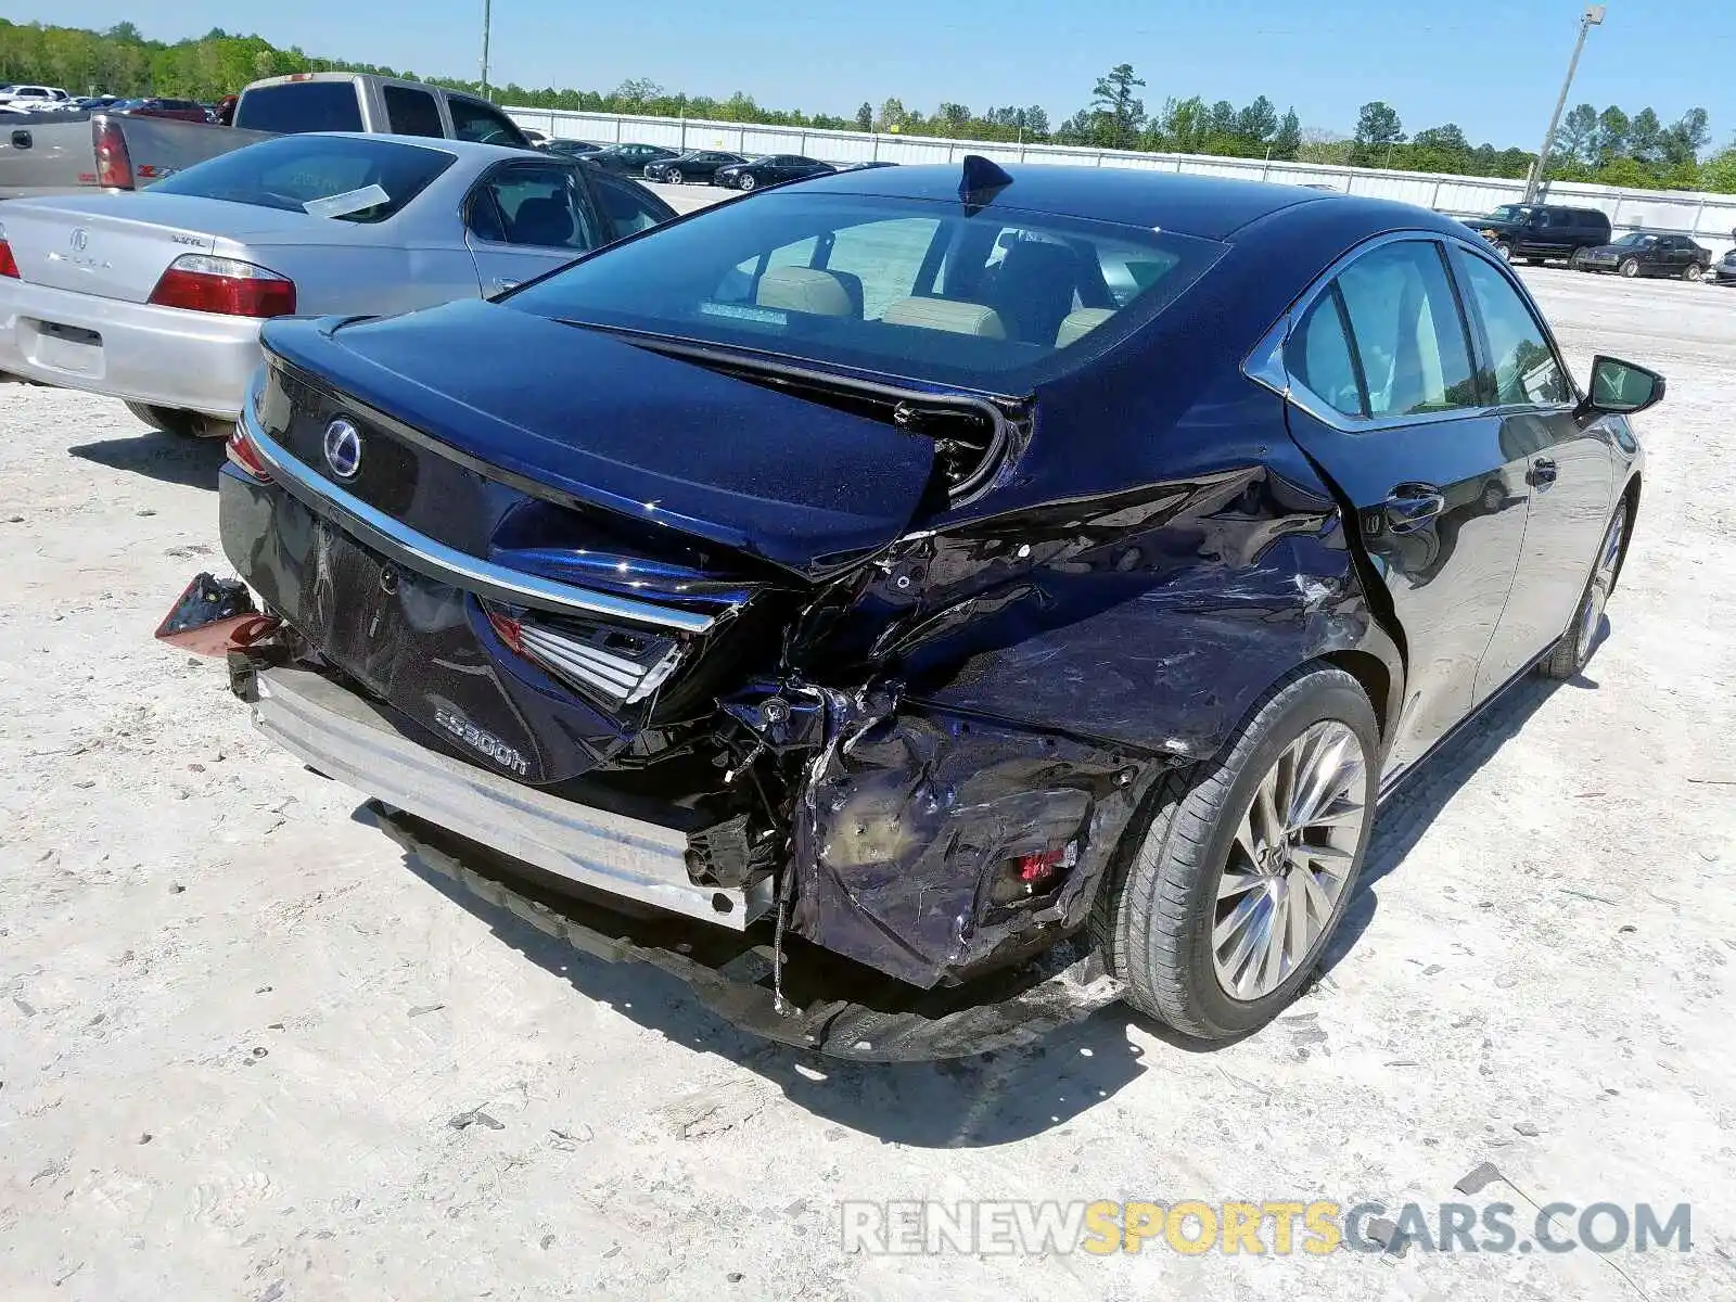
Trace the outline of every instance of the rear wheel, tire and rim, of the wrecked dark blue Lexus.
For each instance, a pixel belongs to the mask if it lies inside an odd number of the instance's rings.
[[[1323,806],[1337,811],[1338,825],[1299,833],[1314,840],[1292,845],[1286,833],[1281,844],[1266,845],[1257,825],[1267,832],[1271,825],[1255,797],[1267,778],[1278,776],[1281,759],[1292,760],[1293,774],[1293,748],[1305,746],[1307,738],[1351,748],[1344,752],[1352,760],[1340,774],[1344,790]],[[1264,1026],[1295,1000],[1354,894],[1373,825],[1378,752],[1375,712],[1361,684],[1344,670],[1311,665],[1279,679],[1217,759],[1165,778],[1092,913],[1092,934],[1109,972],[1128,984],[1128,1003],[1198,1040],[1231,1040]],[[1281,795],[1278,804],[1285,804]],[[1345,821],[1349,812],[1358,816],[1354,826]],[[1337,844],[1323,844],[1326,838]],[[1335,871],[1323,880],[1323,870],[1316,870],[1321,859],[1295,854],[1304,845],[1330,849]],[[1302,882],[1300,873],[1309,880]],[[1222,887],[1233,894],[1220,901]],[[1266,946],[1255,943],[1257,932],[1271,932],[1274,913],[1283,925],[1292,915],[1290,899],[1302,904],[1304,930],[1321,915],[1325,922],[1295,946],[1300,958],[1292,948],[1267,965],[1259,958]],[[1226,939],[1226,955],[1219,953],[1219,939]],[[1243,984],[1233,995],[1227,984],[1238,984],[1234,950],[1248,946],[1255,951],[1252,972],[1240,969]],[[1220,974],[1226,960],[1227,976]]]

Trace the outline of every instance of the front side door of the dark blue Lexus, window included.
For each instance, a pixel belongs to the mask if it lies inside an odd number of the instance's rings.
[[[1568,627],[1614,509],[1614,460],[1602,425],[1575,415],[1580,394],[1519,283],[1474,248],[1451,257],[1526,516],[1512,597],[1477,670],[1483,701]]]

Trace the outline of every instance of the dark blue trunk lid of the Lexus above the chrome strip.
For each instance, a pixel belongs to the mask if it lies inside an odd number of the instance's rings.
[[[273,437],[330,479],[325,429],[345,401],[363,408],[363,444],[391,474],[344,486],[474,556],[505,545],[510,498],[526,496],[812,582],[896,540],[934,470],[925,436],[500,304],[283,319],[264,342],[323,391],[269,418]],[[516,542],[582,552],[569,531]]]

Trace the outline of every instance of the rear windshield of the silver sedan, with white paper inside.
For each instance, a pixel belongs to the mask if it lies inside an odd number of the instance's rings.
[[[444,149],[366,135],[283,135],[196,163],[151,193],[384,222],[455,161]]]

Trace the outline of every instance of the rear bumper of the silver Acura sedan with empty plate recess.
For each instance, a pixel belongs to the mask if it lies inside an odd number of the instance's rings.
[[[259,326],[0,279],[0,372],[222,420],[241,413]]]

